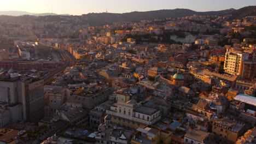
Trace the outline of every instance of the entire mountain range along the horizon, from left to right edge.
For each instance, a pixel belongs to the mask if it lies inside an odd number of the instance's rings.
[[[1,16],[4,15],[22,15],[18,17],[13,16]],[[81,16],[73,15],[57,15],[52,13],[44,14],[32,14],[25,11],[0,11],[0,20],[9,21],[65,21],[65,16],[75,17],[79,20],[79,24],[89,23],[91,26],[102,26],[106,24],[112,24],[118,21],[141,21],[141,20],[155,20],[155,19],[166,19],[167,17],[176,18],[184,16],[197,15],[217,15],[223,16],[227,14],[232,14],[231,19],[241,19],[242,17],[248,15],[256,15],[256,6],[248,6],[241,9],[226,9],[219,11],[194,11],[190,9],[163,9],[163,10],[153,10],[153,11],[133,11],[131,13],[89,13],[83,14]],[[69,19],[72,20],[72,19]]]

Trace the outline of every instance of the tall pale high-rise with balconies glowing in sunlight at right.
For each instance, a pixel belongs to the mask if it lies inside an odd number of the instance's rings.
[[[248,59],[249,53],[242,53],[227,49],[225,54],[224,70],[231,75],[242,75],[243,62]]]

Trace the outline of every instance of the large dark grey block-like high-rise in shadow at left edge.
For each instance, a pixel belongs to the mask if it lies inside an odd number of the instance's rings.
[[[22,111],[20,119],[38,122],[44,117],[44,80],[11,74],[0,80],[0,100],[10,105],[22,104],[17,110]]]

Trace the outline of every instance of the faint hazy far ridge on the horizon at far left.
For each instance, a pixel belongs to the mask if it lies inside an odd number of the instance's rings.
[[[10,10],[10,11],[0,11],[0,15],[9,15],[9,16],[21,16],[21,15],[47,16],[47,15],[58,15],[58,14],[54,14],[54,13],[37,14],[37,13],[29,13],[27,11]],[[69,15],[69,14],[61,14],[61,15]]]

